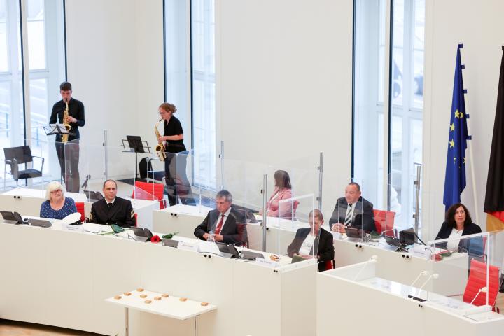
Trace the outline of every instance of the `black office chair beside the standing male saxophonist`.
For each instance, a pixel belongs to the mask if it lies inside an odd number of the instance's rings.
[[[31,149],[29,146],[3,148],[3,154],[5,155],[5,159],[3,159],[5,162],[5,167],[3,169],[3,189],[6,188],[6,174],[13,176],[14,181],[16,181],[16,186],[18,186],[19,179],[33,179],[34,177],[41,177],[43,186],[42,171],[44,158],[31,155]],[[40,170],[28,168],[28,163],[33,162],[33,158],[42,159]],[[19,165],[22,165],[23,163],[25,164],[25,170],[20,170]],[[7,165],[10,166],[10,172],[7,172]]]

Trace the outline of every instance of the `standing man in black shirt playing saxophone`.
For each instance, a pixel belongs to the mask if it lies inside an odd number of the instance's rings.
[[[56,135],[56,153],[66,191],[78,193],[80,187],[78,172],[80,134],[78,127],[83,127],[85,124],[84,104],[71,97],[72,88],[68,82],[59,85],[59,93],[62,100],[52,106],[49,123],[70,125],[69,135],[65,137],[66,139],[62,139],[59,134]],[[66,114],[68,114],[68,117],[64,120]]]

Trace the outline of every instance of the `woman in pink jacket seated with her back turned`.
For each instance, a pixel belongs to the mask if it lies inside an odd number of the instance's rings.
[[[282,202],[280,209],[279,203],[281,200],[292,198],[292,186],[290,186],[290,177],[285,170],[277,170],[274,174],[275,188],[269,201],[266,204],[266,215],[269,217],[280,217],[292,219],[295,215],[295,209],[299,202]],[[262,211],[259,211],[262,214]]]

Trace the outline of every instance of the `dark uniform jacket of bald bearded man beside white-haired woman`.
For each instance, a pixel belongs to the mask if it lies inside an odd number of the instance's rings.
[[[105,199],[94,202],[91,205],[90,223],[117,224],[124,228],[135,226],[134,211],[130,200],[116,197],[111,209]]]

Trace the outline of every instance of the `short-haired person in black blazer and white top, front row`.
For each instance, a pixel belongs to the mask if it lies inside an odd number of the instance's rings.
[[[300,255],[304,259],[316,255],[318,272],[322,272],[325,271],[325,262],[334,259],[332,235],[321,228],[323,215],[320,210],[310,211],[308,217],[310,227],[297,230],[293,242],[287,247],[287,253],[290,258]]]

